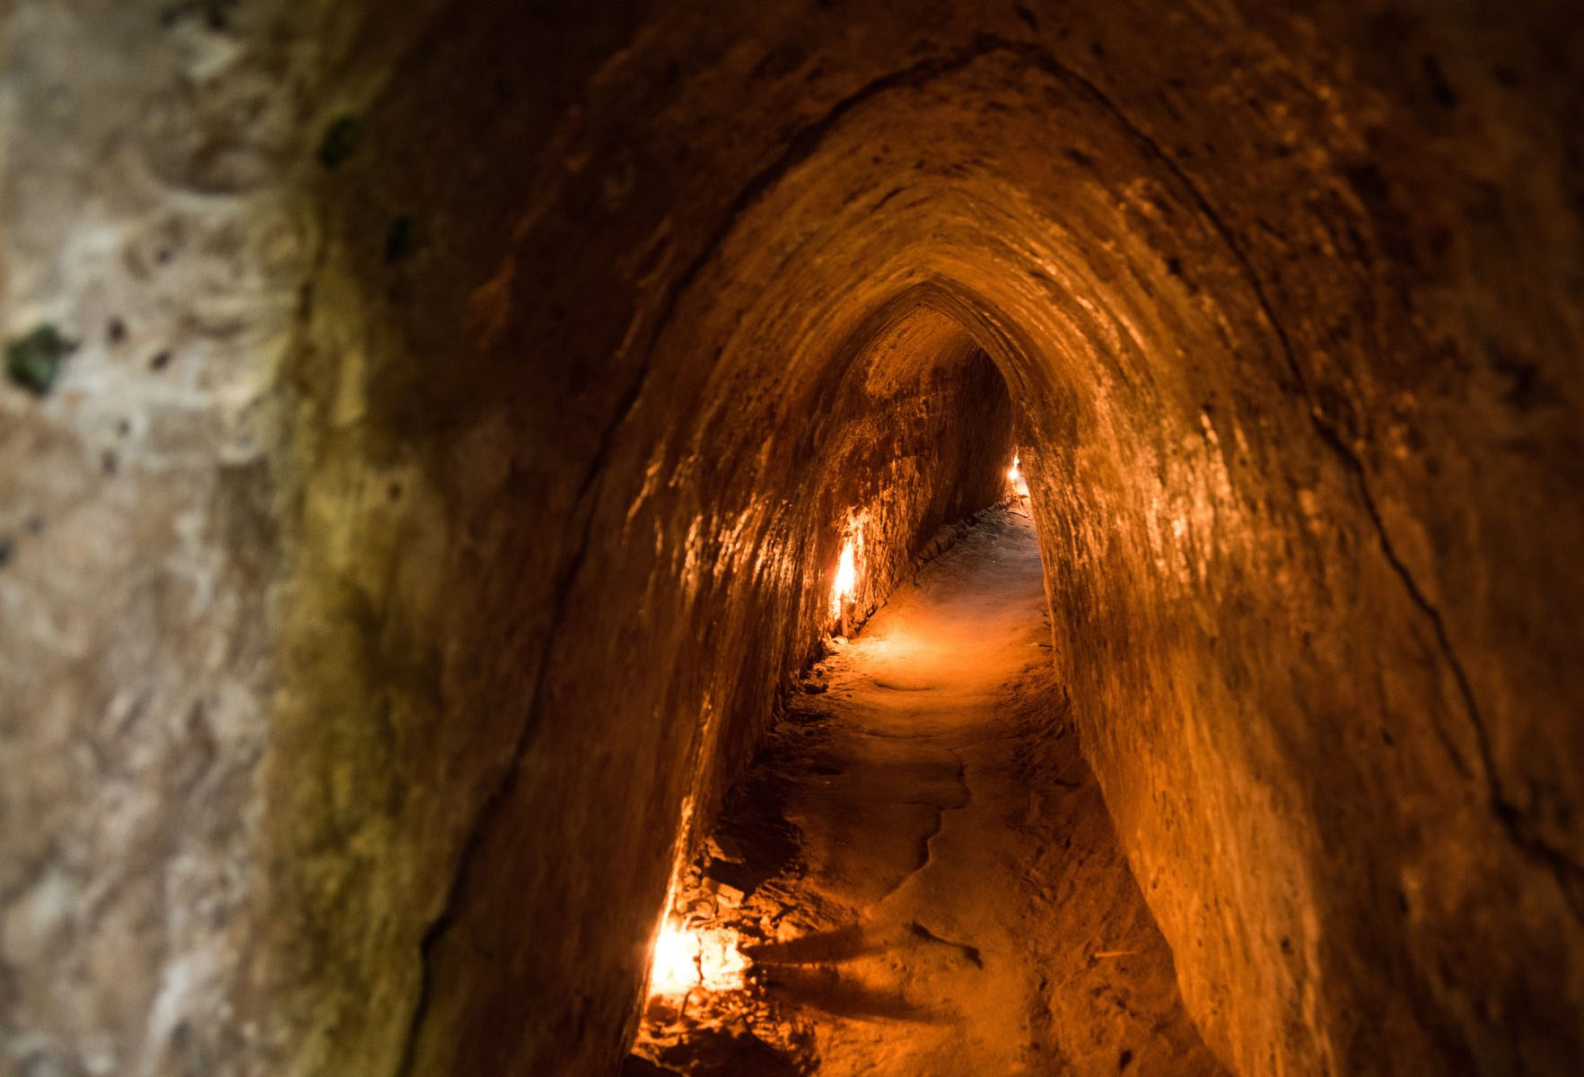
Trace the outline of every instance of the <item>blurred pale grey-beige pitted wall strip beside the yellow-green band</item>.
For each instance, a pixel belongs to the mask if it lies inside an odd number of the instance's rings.
[[[306,33],[0,10],[0,337],[71,345],[46,391],[0,380],[0,1072],[257,1069],[236,1003],[277,371],[317,230],[282,185]]]

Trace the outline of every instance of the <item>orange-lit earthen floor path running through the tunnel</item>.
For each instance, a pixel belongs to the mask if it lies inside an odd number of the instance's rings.
[[[1033,524],[990,510],[733,790],[683,892],[706,987],[651,998],[627,1072],[1224,1074],[1066,710]]]

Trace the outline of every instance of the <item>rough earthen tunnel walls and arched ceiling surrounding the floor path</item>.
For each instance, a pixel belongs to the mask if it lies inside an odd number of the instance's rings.
[[[147,534],[198,504],[230,521],[182,556],[217,559],[222,597],[268,584],[271,616],[227,657],[203,649],[219,613],[138,645],[174,672],[155,710],[201,695],[241,730],[208,763],[227,781],[195,787],[247,822],[192,849],[242,882],[184,884],[225,927],[150,928],[141,977],[87,969],[89,1003],[30,987],[17,1012],[62,1058],[100,1036],[158,1072],[613,1067],[673,862],[809,656],[851,513],[879,597],[1015,440],[1085,755],[1210,1048],[1239,1074],[1563,1072],[1568,5],[548,8],[258,5],[155,32],[125,5],[139,63],[98,82],[68,78],[71,33],[29,30],[73,87],[49,116],[103,117],[44,130],[130,125],[152,179],[95,173],[108,149],[19,154],[16,309],[55,285],[68,323],[144,304],[211,364],[188,404],[211,426],[122,450],[119,489],[155,491]],[[67,203],[117,185],[138,196]],[[190,236],[208,269],[57,253],[93,228]],[[73,447],[109,404],[87,390],[117,361],[73,358],[84,413],[6,399],[8,500],[131,513],[10,462],[49,437],[92,458]],[[212,388],[228,361],[247,377]],[[157,412],[155,374],[116,407]],[[6,572],[55,596],[29,556]],[[79,569],[108,611],[176,572],[120,564]],[[62,713],[138,687],[141,622],[100,619],[127,627],[89,672],[43,635],[13,651],[76,670]],[[52,751],[17,729],[13,759]],[[190,744],[144,736],[128,773],[185,781]],[[49,825],[8,860],[105,839],[109,793],[21,782]],[[190,811],[158,800],[149,833]],[[136,857],[62,885],[177,873]],[[6,960],[35,984],[90,942],[51,946]],[[187,993],[182,960],[211,969]]]

